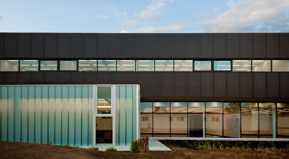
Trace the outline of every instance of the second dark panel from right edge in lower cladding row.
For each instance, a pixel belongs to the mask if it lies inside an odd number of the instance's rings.
[[[279,72],[267,72],[267,97],[280,97]]]

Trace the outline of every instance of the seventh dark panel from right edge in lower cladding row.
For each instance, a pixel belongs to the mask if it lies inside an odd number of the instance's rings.
[[[214,96],[214,78],[213,72],[201,72],[201,97],[213,97]]]

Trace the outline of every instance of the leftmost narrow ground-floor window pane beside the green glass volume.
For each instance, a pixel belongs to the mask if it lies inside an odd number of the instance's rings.
[[[140,134],[153,133],[153,102],[140,102]]]

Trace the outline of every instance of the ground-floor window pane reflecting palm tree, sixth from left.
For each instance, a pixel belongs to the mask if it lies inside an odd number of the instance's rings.
[[[240,138],[240,104],[223,103],[224,137]]]

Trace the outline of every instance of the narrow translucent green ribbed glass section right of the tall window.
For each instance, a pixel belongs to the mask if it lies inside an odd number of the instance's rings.
[[[115,86],[116,146],[131,145],[136,140],[136,86]]]

